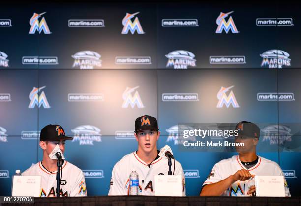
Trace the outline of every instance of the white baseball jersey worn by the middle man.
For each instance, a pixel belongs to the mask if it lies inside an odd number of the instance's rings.
[[[176,160],[175,174],[183,178],[183,196],[185,196],[185,176],[181,164]],[[125,155],[117,162],[112,171],[109,195],[129,195],[129,175],[136,169],[139,175],[140,195],[154,195],[154,176],[168,175],[168,158],[159,157],[149,167],[136,152]],[[174,160],[172,159],[172,173]]]

